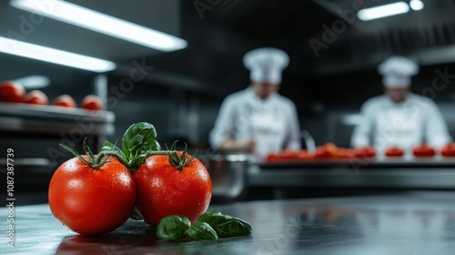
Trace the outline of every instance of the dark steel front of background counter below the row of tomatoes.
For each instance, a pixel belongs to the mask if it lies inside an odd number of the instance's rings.
[[[276,199],[281,199],[289,188],[455,190],[455,158],[258,163],[248,169],[248,186],[274,189]]]

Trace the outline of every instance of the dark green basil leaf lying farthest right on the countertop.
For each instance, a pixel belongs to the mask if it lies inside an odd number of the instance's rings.
[[[221,213],[208,214],[201,220],[204,220],[203,222],[208,223],[208,225],[217,231],[219,238],[249,236],[253,232],[251,225],[247,221],[222,215]]]

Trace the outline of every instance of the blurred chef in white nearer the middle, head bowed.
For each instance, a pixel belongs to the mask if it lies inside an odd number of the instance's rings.
[[[258,48],[243,59],[251,85],[223,101],[215,127],[209,134],[212,148],[221,152],[248,153],[262,159],[284,148],[299,149],[297,109],[278,94],[288,55],[278,48]]]

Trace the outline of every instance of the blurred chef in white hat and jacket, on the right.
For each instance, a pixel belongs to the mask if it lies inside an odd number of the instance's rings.
[[[410,152],[422,143],[440,148],[451,141],[436,104],[410,92],[411,76],[419,73],[414,61],[391,56],[378,71],[385,93],[369,98],[361,107],[363,119],[351,137],[353,147],[374,146],[381,152],[397,146]]]

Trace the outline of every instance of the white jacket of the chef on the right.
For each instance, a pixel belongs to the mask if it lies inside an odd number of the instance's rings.
[[[440,148],[451,141],[444,118],[427,97],[409,93],[402,103],[389,96],[372,97],[361,107],[362,121],[354,129],[351,145],[374,146],[384,151],[391,146],[405,150],[427,143]]]

